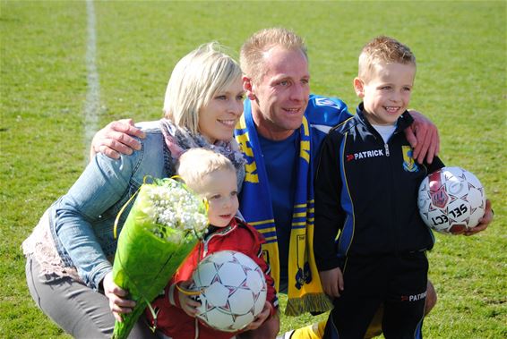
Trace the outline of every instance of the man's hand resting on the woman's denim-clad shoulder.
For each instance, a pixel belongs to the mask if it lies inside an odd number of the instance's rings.
[[[141,143],[133,137],[144,139],[144,133],[133,125],[132,119],[117,120],[95,133],[91,140],[90,159],[97,153],[117,159],[122,154],[130,155],[140,149]]]

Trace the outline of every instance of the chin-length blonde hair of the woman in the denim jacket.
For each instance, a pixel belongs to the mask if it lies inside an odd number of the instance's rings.
[[[219,91],[241,79],[239,64],[211,42],[185,55],[175,66],[166,89],[164,116],[196,133],[199,111]]]

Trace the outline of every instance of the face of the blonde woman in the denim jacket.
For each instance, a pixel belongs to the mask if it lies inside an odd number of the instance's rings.
[[[245,91],[241,78],[215,93],[199,112],[199,132],[210,143],[230,140],[239,117],[243,113]]]

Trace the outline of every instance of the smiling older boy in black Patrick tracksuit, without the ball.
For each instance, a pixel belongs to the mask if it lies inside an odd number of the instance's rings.
[[[433,233],[417,210],[425,176],[403,130],[416,76],[408,47],[374,38],[359,56],[357,114],[324,140],[315,179],[314,252],[335,308],[325,338],[363,338],[383,306],[386,338],[419,338]],[[337,238],[338,235],[338,238]]]

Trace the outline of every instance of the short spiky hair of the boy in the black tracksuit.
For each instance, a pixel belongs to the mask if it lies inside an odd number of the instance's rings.
[[[359,55],[359,78],[368,81],[375,72],[374,67],[379,63],[413,64],[416,66],[416,56],[400,41],[380,36],[363,47],[361,55]]]

